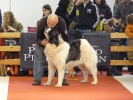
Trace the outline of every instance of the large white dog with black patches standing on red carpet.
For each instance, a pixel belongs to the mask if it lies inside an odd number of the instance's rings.
[[[85,39],[79,39],[70,43],[65,42],[58,31],[47,29],[44,32],[48,41],[44,52],[48,61],[48,81],[45,86],[51,84],[56,69],[58,70],[58,83],[55,87],[61,87],[64,77],[64,70],[68,67],[78,66],[83,73],[84,79],[81,83],[88,81],[88,70],[93,76],[91,84],[97,84],[97,55]]]

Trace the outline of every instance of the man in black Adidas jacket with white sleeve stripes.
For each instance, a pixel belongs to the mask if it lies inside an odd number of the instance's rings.
[[[69,17],[76,19],[76,30],[83,33],[92,33],[99,23],[99,10],[90,0],[77,0]]]

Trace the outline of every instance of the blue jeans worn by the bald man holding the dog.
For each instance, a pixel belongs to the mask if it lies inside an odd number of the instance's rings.
[[[34,80],[38,81],[42,80],[44,73],[44,61],[45,61],[44,48],[45,47],[38,45],[37,43],[35,44],[33,76]]]

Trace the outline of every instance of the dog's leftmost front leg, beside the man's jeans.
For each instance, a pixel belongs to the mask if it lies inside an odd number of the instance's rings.
[[[46,83],[44,83],[44,86],[51,85],[51,82],[53,80],[54,74],[55,74],[56,68],[52,66],[48,66],[48,80]]]

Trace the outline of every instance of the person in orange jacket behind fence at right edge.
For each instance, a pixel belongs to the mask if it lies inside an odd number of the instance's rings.
[[[133,46],[133,14],[130,14],[126,18],[127,26],[125,29],[125,33],[128,38],[128,46]],[[128,52],[128,59],[133,60],[133,52]],[[133,67],[130,68],[131,75],[133,75]]]

